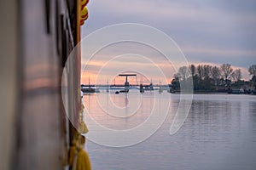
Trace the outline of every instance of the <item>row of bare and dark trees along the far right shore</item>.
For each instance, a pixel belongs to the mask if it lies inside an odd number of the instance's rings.
[[[172,79],[172,89],[178,91],[180,83],[193,81],[195,92],[227,92],[242,88],[250,93],[256,89],[256,65],[250,65],[248,72],[252,78],[245,81],[241,69],[235,70],[230,64],[181,66]]]

